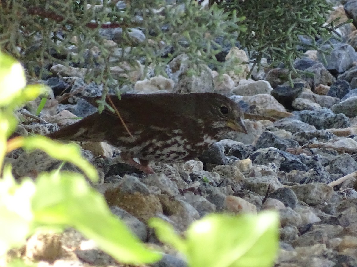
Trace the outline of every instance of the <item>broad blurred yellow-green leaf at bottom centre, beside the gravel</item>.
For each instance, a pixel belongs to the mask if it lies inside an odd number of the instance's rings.
[[[154,227],[159,239],[181,251],[191,267],[270,267],[278,249],[278,216],[272,212],[208,215],[187,229],[184,246],[175,241],[173,230],[163,231],[157,222]]]

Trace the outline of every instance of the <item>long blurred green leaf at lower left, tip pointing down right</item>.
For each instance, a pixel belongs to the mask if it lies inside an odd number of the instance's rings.
[[[73,172],[41,173],[32,199],[35,222],[78,229],[120,262],[150,263],[160,254],[150,251],[108,208],[104,197],[83,176]]]

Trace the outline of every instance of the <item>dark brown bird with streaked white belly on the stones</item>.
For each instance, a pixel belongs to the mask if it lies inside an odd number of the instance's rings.
[[[101,96],[82,98],[98,106]],[[229,131],[247,133],[238,105],[216,93],[122,94],[121,100],[107,95],[106,101],[114,105],[125,125],[116,113],[105,109],[47,136],[105,141],[122,151],[126,163],[152,174],[150,161],[185,162],[200,156]]]

